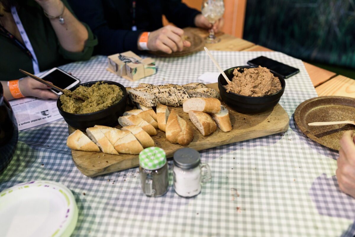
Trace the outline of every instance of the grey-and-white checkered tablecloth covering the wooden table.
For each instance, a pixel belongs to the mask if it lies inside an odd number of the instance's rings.
[[[212,54],[222,68],[246,65],[264,55],[297,67],[300,73],[286,79],[280,100],[290,117],[288,131],[200,151],[213,178],[197,197],[179,197],[171,174],[169,191],[159,198],[142,193],[137,168],[84,176],[66,147],[68,131],[62,119],[20,132],[16,154],[0,176],[0,191],[30,180],[64,184],[79,208],[72,236],[353,236],[355,199],[339,190],[337,153],[307,139],[293,122],[297,105],[317,96],[303,63],[277,52]],[[198,81],[206,71],[217,71],[205,52],[157,57],[156,64],[158,73],[140,82],[184,84]],[[117,77],[106,67],[106,57],[95,56],[62,69],[82,82],[139,83]]]

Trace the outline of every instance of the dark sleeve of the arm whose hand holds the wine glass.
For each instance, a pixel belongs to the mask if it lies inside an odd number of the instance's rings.
[[[162,0],[163,14],[179,28],[196,27],[195,16],[201,12],[186,6],[181,0]]]

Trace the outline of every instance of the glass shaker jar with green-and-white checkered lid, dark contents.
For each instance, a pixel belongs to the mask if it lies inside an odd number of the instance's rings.
[[[142,191],[148,197],[160,197],[169,189],[169,170],[165,151],[149,147],[139,154]]]

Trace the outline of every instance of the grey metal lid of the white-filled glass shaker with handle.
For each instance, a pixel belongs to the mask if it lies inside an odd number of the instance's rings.
[[[191,148],[182,148],[174,153],[174,165],[182,169],[192,169],[200,164],[200,153]]]

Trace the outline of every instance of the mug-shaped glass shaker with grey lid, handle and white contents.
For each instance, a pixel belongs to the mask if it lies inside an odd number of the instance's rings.
[[[202,173],[202,170],[205,170]],[[200,153],[191,148],[182,148],[174,153],[174,189],[181,197],[190,198],[201,192],[202,183],[209,181],[211,169],[202,164]]]

